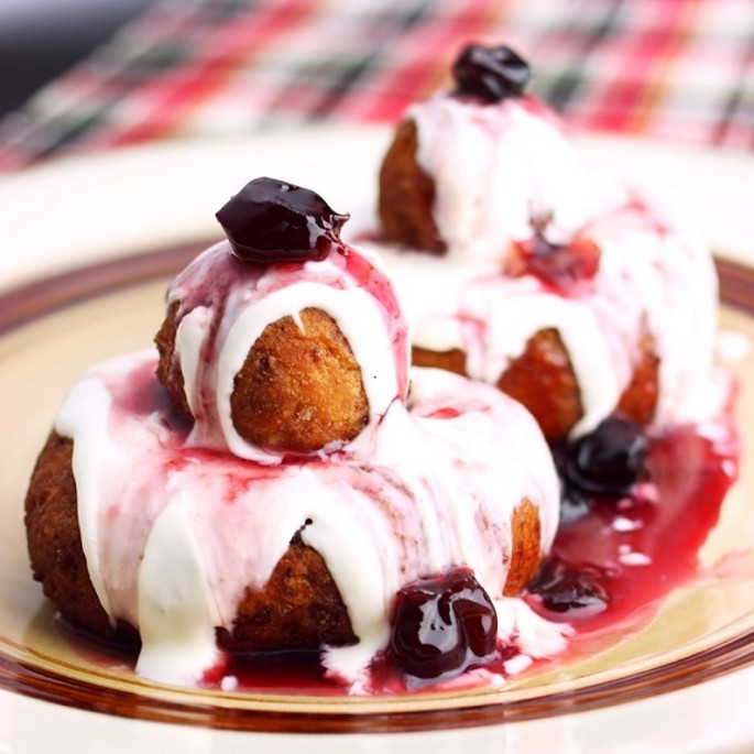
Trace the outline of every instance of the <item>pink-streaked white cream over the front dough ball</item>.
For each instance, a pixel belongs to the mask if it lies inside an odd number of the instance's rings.
[[[284,454],[260,448],[238,434],[230,397],[236,375],[264,328],[289,316],[304,329],[300,312],[306,307],[332,317],[361,367],[369,402],[368,434],[392,401],[405,395],[405,320],[391,314],[385,303],[370,295],[363,282],[349,274],[348,265],[338,261],[338,255],[331,254],[315,264],[255,267],[243,274],[242,264],[222,242],[176,278],[167,298],[182,307],[175,358],[195,416],[190,442],[196,447],[229,450],[261,463],[281,462]],[[371,275],[384,277],[376,266],[370,269]],[[218,294],[201,293],[197,286],[197,281],[218,280],[228,281],[221,300],[216,300]],[[390,284],[384,281],[383,287],[390,288]],[[208,351],[212,351],[210,358]]]

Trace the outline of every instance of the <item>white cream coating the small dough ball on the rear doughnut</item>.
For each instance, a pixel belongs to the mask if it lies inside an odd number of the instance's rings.
[[[502,259],[551,215],[553,240],[570,238],[610,201],[582,166],[555,113],[537,100],[480,106],[437,95],[409,108],[416,162],[434,181],[435,225],[450,259]]]

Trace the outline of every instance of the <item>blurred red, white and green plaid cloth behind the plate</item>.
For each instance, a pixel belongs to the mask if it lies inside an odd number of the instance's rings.
[[[527,57],[579,128],[754,149],[754,0],[162,0],[0,121],[0,167],[395,121],[471,40]]]

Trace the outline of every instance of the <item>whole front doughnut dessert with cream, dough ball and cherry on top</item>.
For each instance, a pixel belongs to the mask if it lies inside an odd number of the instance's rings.
[[[558,522],[557,476],[532,416],[485,384],[409,373],[392,284],[340,240],[346,218],[314,193],[258,179],[218,217],[229,240],[170,285],[160,353],[84,375],[40,457],[30,531],[45,465],[63,448],[85,556],[77,586],[109,627],[52,588],[30,535],[35,575],[63,614],[101,633],[135,630],[138,673],[177,684],[201,682],[228,653],[292,646],[323,653],[354,692],[370,690],[375,662],[435,682],[503,651],[518,667],[560,651],[567,629],[518,598]],[[358,379],[340,383],[338,367]],[[328,384],[349,400],[325,401]],[[260,392],[277,404],[238,420]],[[278,416],[300,437],[281,434]],[[418,594],[427,612],[430,593],[467,618],[448,627],[449,659],[427,668],[401,618],[416,611],[401,605]]]

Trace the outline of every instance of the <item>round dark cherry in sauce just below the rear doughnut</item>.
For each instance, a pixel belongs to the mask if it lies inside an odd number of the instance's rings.
[[[642,427],[608,417],[568,448],[566,483],[597,495],[629,494],[644,471],[647,450]]]

